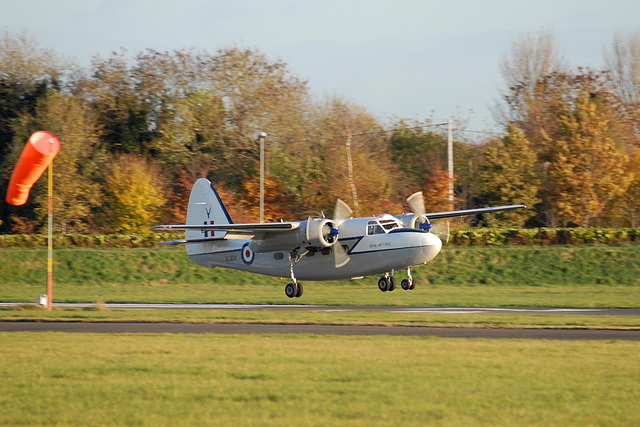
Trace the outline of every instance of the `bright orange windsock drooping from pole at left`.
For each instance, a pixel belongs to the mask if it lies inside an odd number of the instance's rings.
[[[31,135],[11,174],[7,202],[15,206],[27,203],[31,187],[42,176],[58,151],[60,140],[54,134],[41,130]]]

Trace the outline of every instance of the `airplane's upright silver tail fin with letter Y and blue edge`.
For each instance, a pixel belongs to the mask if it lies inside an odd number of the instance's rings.
[[[189,197],[189,208],[187,210],[187,225],[213,225],[213,224],[233,224],[229,212],[224,207],[220,196],[211,181],[200,178],[193,184],[191,196]],[[226,231],[207,231],[202,235],[200,230],[187,230],[185,238],[187,240],[202,239],[203,237],[224,238]]]

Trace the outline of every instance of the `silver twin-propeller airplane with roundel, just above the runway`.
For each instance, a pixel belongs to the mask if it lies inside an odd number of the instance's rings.
[[[431,230],[431,220],[475,215],[525,205],[426,213],[422,192],[411,195],[413,212],[392,216],[353,218],[349,206],[336,202],[333,218],[306,221],[237,224],[218,192],[206,178],[191,190],[186,224],[157,225],[154,231],[184,231],[185,238],[162,242],[185,245],[187,255],[204,267],[225,267],[274,277],[287,277],[289,298],[301,297],[298,280],[348,280],[382,276],[378,288],[396,288],[395,271],[407,271],[402,289],[415,288],[411,268],[438,255],[441,239]]]

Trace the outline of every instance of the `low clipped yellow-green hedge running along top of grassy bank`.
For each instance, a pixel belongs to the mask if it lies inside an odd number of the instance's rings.
[[[180,233],[150,234],[57,234],[55,247],[82,248],[151,248],[166,240],[182,238]],[[640,228],[471,228],[451,230],[449,245],[501,246],[501,245],[581,245],[581,244],[640,243]],[[0,248],[46,247],[43,234],[0,234]]]

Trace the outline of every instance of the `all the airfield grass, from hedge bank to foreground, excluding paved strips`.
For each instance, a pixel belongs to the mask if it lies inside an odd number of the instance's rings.
[[[445,248],[414,291],[192,264],[173,249],[59,249],[54,301],[640,307],[640,246]],[[0,301],[45,292],[41,249],[0,249]],[[630,316],[23,306],[0,320],[638,328]],[[0,333],[0,425],[640,425],[640,343]]]

